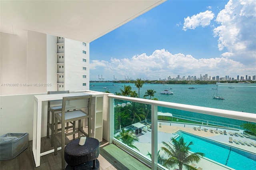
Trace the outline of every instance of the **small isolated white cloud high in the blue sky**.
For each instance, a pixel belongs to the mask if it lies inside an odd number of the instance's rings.
[[[200,12],[199,14],[193,15],[192,17],[184,18],[184,26],[183,29],[186,31],[187,29],[195,29],[198,26],[208,26],[210,25],[211,20],[214,18],[214,13],[212,11]]]

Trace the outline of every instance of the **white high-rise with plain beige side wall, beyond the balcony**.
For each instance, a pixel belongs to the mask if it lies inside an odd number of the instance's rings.
[[[89,89],[89,43],[23,29],[1,42],[0,95]]]

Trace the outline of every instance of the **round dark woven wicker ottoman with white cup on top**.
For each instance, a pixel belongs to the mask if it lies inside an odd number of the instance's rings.
[[[64,149],[64,158],[68,164],[66,169],[99,169],[100,163],[96,159],[100,154],[100,142],[95,138],[86,138],[85,144],[81,146],[79,141],[72,140]]]

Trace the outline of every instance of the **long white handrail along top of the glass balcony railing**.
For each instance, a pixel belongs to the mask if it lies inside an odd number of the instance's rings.
[[[171,109],[178,109],[178,110],[190,111],[194,113],[202,113],[206,115],[225,117],[230,119],[237,119],[240,121],[248,121],[248,122],[256,123],[256,114],[254,113],[230,111],[230,110],[215,109],[215,108],[209,109],[209,107],[185,105],[180,103],[171,103],[166,101],[156,101],[156,100],[150,100],[150,99],[140,99],[136,97],[126,97],[126,96],[119,96],[119,95],[112,95],[112,94],[108,95],[108,97],[113,99],[120,99],[120,100],[132,101],[132,102],[143,103],[148,105],[168,107]]]

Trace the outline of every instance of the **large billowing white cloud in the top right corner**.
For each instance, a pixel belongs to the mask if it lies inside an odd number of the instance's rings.
[[[256,64],[256,1],[230,0],[216,18],[220,26],[214,28],[218,49],[226,49],[222,56],[244,64]]]

